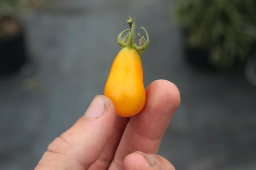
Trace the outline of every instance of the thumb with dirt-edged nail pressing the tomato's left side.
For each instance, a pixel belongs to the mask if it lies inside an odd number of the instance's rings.
[[[49,144],[35,170],[87,170],[101,155],[115,122],[115,108],[97,95],[84,116]]]

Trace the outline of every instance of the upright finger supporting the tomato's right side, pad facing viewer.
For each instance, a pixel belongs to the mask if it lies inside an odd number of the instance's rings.
[[[111,170],[123,169],[123,159],[134,151],[156,154],[163,134],[180,105],[180,92],[167,80],[156,80],[148,85],[143,110],[131,117],[123,133]]]

